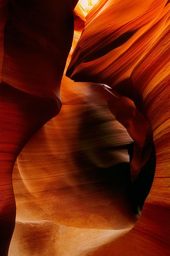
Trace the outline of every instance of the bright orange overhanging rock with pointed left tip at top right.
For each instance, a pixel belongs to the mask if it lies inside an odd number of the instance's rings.
[[[169,17],[169,5],[164,8],[165,3],[150,0],[134,4],[128,0],[120,5],[119,0],[107,1],[84,29],[66,75],[74,81],[112,88],[128,79]]]

